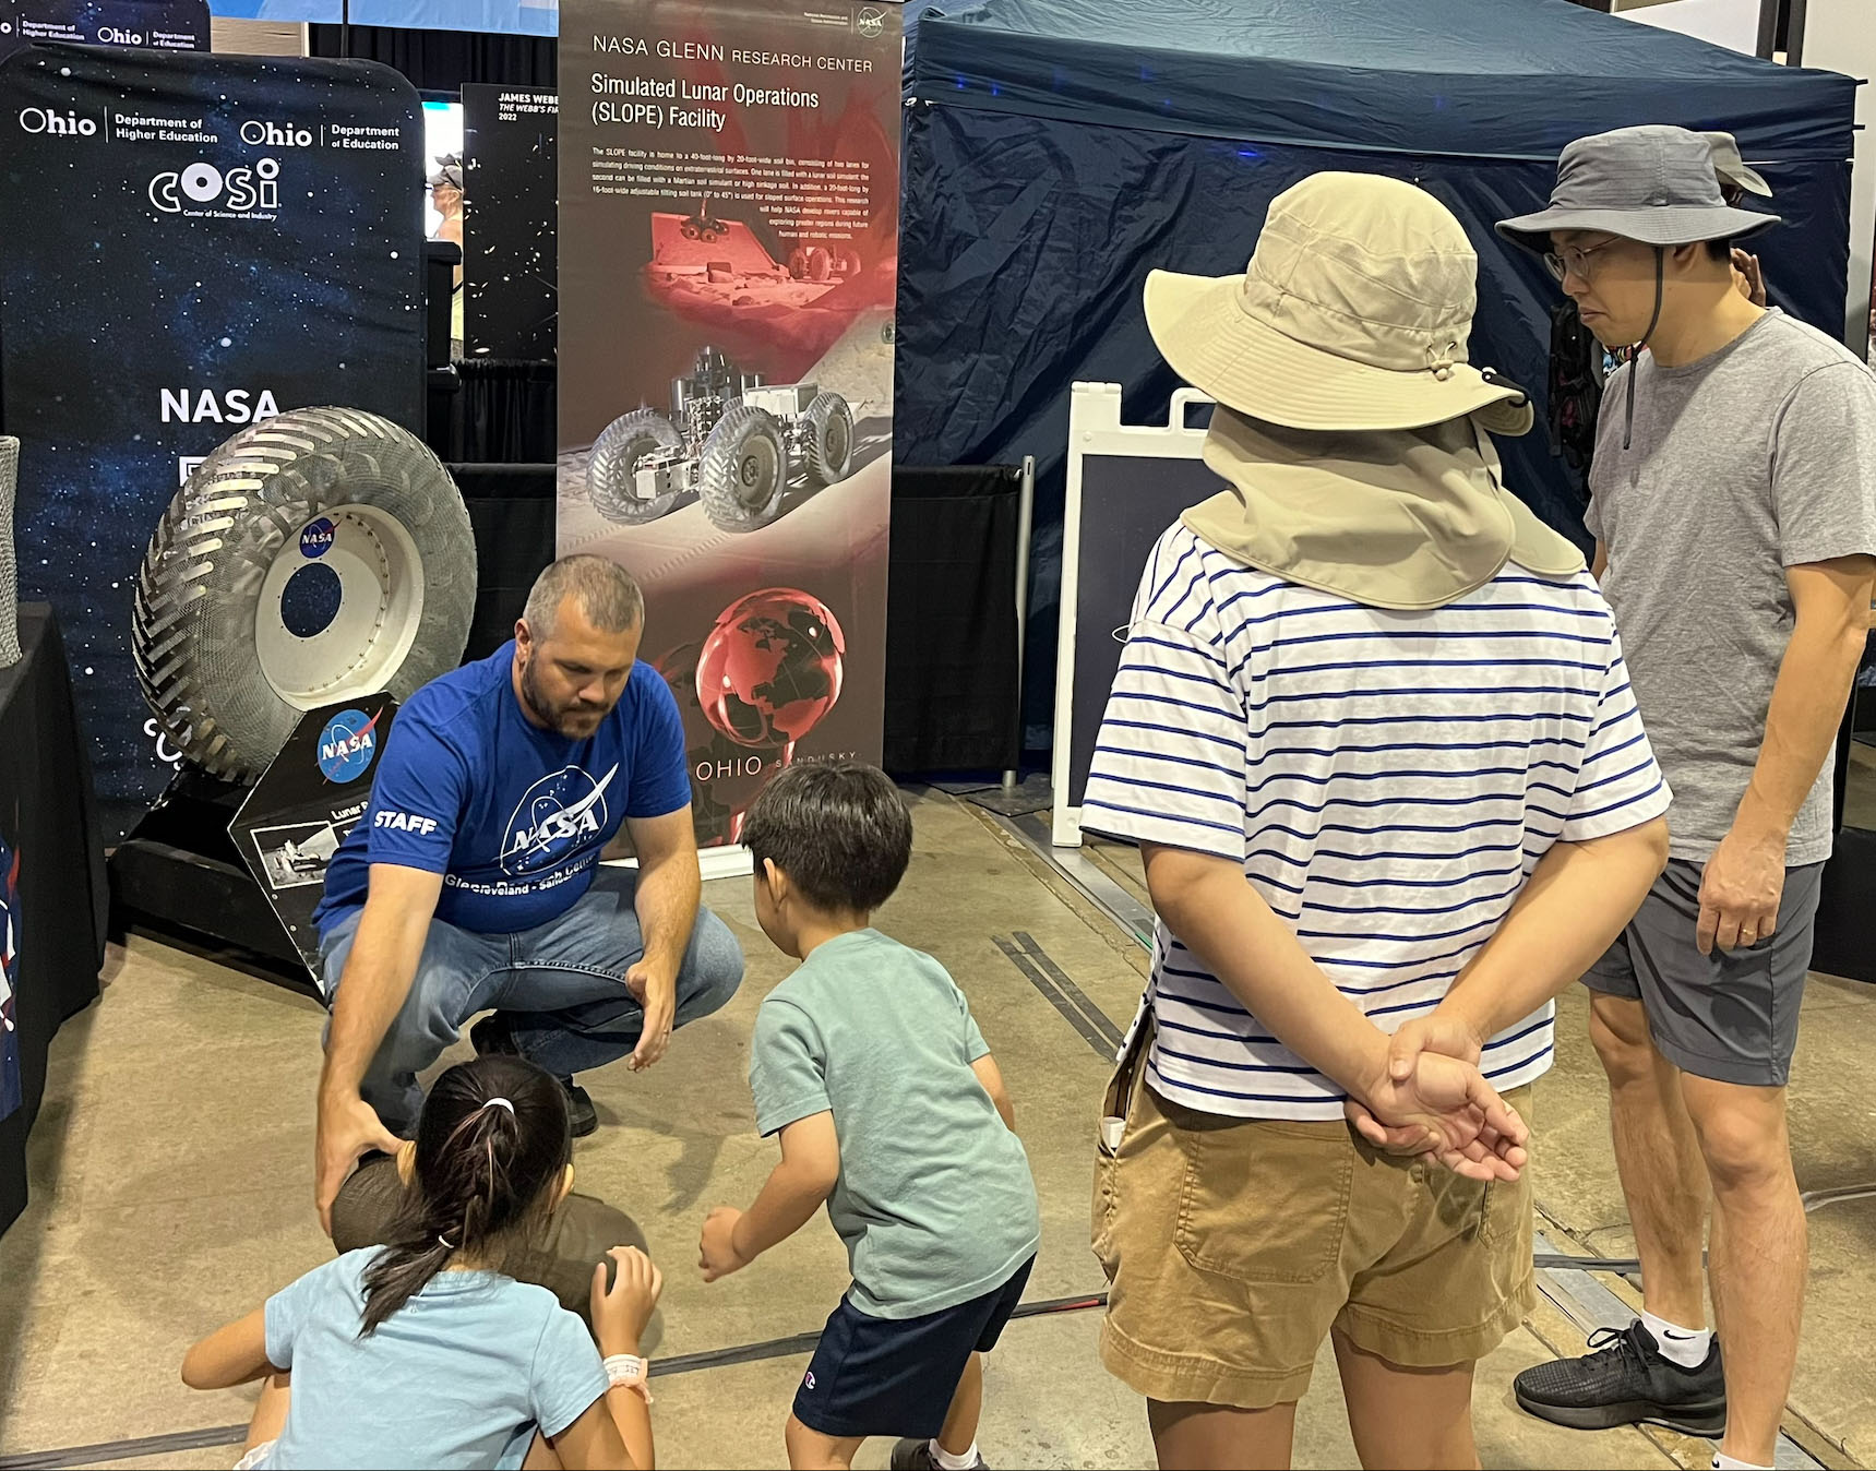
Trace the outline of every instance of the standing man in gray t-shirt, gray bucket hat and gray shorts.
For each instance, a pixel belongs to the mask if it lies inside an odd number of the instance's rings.
[[[1698,133],[1625,128],[1572,143],[1550,208],[1499,225],[1604,345],[1640,345],[1602,398],[1587,523],[1675,794],[1668,869],[1583,978],[1645,1313],[1518,1375],[1518,1402],[1724,1428],[1715,1465],[1765,1467],[1805,1297],[1784,1084],[1876,585],[1876,377],[1737,291],[1732,240],[1775,223],[1724,203]]]

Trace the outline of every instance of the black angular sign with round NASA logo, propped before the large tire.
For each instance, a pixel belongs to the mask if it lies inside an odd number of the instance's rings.
[[[326,863],[364,816],[377,756],[396,719],[398,702],[388,694],[308,711],[229,826],[315,981],[313,910],[325,893]]]

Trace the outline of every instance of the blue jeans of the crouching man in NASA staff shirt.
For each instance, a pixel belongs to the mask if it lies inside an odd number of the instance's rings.
[[[628,1056],[645,1013],[625,972],[645,953],[632,908],[636,872],[600,869],[567,914],[520,934],[478,934],[443,919],[416,963],[416,978],[366,1069],[360,1094],[385,1128],[409,1135],[424,1096],[416,1075],[452,1045],[477,1011],[503,1011],[522,1056],[572,1077]],[[321,942],[326,1000],[345,974],[358,916]],[[743,948],[728,925],[698,910],[677,968],[677,1026],[707,1017],[743,983]]]

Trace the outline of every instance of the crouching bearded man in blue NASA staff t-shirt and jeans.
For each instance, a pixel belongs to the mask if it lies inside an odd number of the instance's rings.
[[[649,1068],[675,1026],[735,994],[743,951],[698,906],[683,722],[638,662],[642,632],[627,572],[563,557],[512,644],[398,713],[313,916],[332,1002],[323,1218],[364,1150],[415,1128],[416,1073],[477,1011],[495,1011],[471,1030],[477,1051],[563,1079],[574,1133],[591,1133],[574,1073]],[[621,824],[636,876],[598,867]]]

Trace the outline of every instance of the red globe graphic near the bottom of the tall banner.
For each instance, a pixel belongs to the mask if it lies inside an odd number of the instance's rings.
[[[846,634],[825,602],[765,587],[717,615],[698,657],[698,704],[737,745],[788,745],[840,698],[844,657]]]

